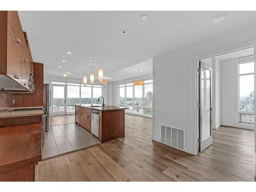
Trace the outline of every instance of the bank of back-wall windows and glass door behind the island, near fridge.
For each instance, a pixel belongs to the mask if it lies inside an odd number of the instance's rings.
[[[73,113],[75,104],[102,103],[102,86],[87,85],[80,83],[52,82],[52,112]]]

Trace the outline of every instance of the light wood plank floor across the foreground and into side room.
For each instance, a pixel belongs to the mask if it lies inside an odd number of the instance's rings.
[[[219,127],[197,156],[152,141],[152,119],[125,115],[126,137],[39,162],[39,181],[254,181],[253,131]]]

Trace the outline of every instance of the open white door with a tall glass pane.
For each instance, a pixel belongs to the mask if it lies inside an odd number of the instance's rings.
[[[211,67],[199,61],[199,152],[212,144]]]

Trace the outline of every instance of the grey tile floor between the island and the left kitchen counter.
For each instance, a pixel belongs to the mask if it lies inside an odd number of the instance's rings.
[[[49,132],[45,133],[42,159],[48,159],[96,144],[100,144],[98,139],[75,123],[51,126]]]

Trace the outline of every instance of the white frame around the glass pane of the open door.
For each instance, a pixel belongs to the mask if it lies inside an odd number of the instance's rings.
[[[200,62],[202,65],[200,66]],[[206,69],[210,70],[210,137],[207,140],[202,140],[202,114],[201,114],[201,103],[202,103],[202,86],[201,77],[202,77],[202,67],[207,67]],[[198,61],[198,152],[204,151],[208,146],[212,144],[212,67],[207,63],[199,60]],[[207,147],[202,147],[203,145],[208,145]]]

